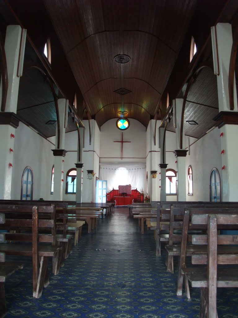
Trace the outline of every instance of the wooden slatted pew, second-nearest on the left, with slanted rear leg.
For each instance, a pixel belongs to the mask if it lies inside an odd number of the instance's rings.
[[[1,233],[2,240],[15,240],[20,243],[2,243],[0,244],[0,252],[6,255],[32,257],[33,297],[39,298],[42,294],[43,286],[49,285],[47,272],[49,257],[52,258],[54,274],[59,271],[59,256],[62,249],[56,246],[55,220],[53,219],[55,207],[50,205],[32,207],[31,205],[0,204],[0,212],[5,214],[5,224],[0,225],[0,229],[30,229],[31,231],[31,233]],[[39,219],[39,214],[46,215],[46,218],[42,217]],[[8,218],[8,216],[12,215],[14,215],[14,218]],[[48,228],[50,233],[41,234],[40,229],[42,228]],[[31,242],[32,244],[23,244],[22,242]],[[42,242],[48,244],[42,244]]]

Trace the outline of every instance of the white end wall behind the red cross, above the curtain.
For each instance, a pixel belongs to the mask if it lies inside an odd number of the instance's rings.
[[[122,144],[114,141],[122,140],[122,131],[116,127],[117,119],[110,119],[101,127],[100,162],[106,163],[145,163],[146,162],[146,128],[135,119],[130,119],[130,127],[123,131]]]

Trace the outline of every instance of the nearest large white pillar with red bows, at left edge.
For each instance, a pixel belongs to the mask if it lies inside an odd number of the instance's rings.
[[[0,112],[0,199],[11,199],[12,167],[14,137],[19,125],[17,99],[20,75],[17,71],[24,58],[25,42],[21,41],[22,28],[19,25],[8,25],[5,38],[5,53],[8,72],[8,91],[5,112]],[[21,55],[21,56],[20,56]],[[2,89],[2,88],[1,88]]]

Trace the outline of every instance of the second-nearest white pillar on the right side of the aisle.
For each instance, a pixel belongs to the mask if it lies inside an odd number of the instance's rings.
[[[182,126],[182,105],[183,99],[177,98],[173,101],[174,114],[176,114],[176,150],[174,151],[176,161],[177,161],[177,201],[187,201],[186,193],[186,183],[187,183],[187,173],[186,173],[186,164],[185,157],[187,151],[185,150],[185,135],[184,135],[184,125]],[[181,145],[181,136],[182,136],[182,145]]]

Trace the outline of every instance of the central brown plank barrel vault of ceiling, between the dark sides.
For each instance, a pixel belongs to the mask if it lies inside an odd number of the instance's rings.
[[[47,0],[44,2],[92,116],[99,126],[128,112],[154,116],[196,1]],[[114,57],[131,60],[118,64]],[[121,96],[114,91],[131,91]]]

